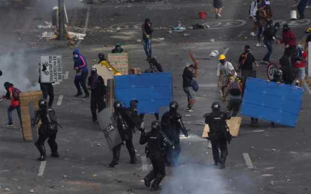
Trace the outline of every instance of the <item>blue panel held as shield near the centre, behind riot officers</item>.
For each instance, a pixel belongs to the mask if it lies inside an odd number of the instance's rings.
[[[131,99],[137,99],[138,113],[158,113],[173,99],[172,73],[114,76],[114,94],[114,99],[126,106]]]

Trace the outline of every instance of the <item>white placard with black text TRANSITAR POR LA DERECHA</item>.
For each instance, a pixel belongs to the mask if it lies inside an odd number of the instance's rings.
[[[63,76],[63,56],[42,54],[40,56],[40,78],[42,83],[61,82]]]

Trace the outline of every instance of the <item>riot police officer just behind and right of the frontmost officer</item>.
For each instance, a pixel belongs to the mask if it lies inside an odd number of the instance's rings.
[[[168,165],[176,165],[178,156],[181,152],[179,134],[182,131],[188,137],[188,131],[184,126],[182,115],[177,112],[177,101],[170,102],[170,110],[163,114],[161,124],[162,130],[168,136],[175,146],[175,149],[167,148],[165,151],[166,163]]]

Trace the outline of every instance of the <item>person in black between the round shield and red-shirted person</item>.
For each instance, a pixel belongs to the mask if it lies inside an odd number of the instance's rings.
[[[289,58],[287,55],[282,56],[279,59],[281,65],[280,70],[282,71],[282,82],[291,85],[295,79],[295,70],[289,63]]]

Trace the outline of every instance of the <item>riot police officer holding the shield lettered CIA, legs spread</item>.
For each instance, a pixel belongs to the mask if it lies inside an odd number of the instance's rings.
[[[113,103],[113,107],[113,118],[116,122],[122,141],[125,141],[125,145],[130,156],[130,163],[136,163],[137,159],[135,157],[135,149],[132,142],[133,131],[129,125],[128,116],[126,115],[126,108],[122,106],[120,101],[115,101]],[[112,148],[113,159],[109,163],[110,167],[114,167],[116,164],[118,164],[121,144],[123,144],[123,142]]]

